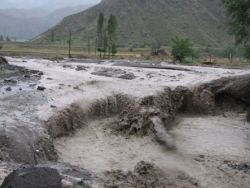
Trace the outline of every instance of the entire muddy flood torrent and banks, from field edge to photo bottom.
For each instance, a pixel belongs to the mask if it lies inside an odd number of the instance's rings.
[[[58,169],[64,187],[250,185],[248,97],[205,84],[249,69],[7,59],[0,182],[29,163]]]

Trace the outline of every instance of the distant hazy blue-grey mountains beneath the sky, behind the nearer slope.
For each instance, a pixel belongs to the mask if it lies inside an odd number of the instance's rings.
[[[64,17],[81,12],[92,5],[78,5],[57,9],[51,13],[42,8],[1,9],[0,35],[17,39],[32,39],[56,25]],[[14,19],[12,19],[14,18]]]

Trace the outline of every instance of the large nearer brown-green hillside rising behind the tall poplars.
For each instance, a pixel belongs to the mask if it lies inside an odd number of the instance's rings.
[[[57,43],[65,43],[72,30],[73,44],[91,44],[96,38],[96,22],[100,12],[106,17],[117,16],[117,43],[141,45],[161,40],[170,45],[174,36],[190,37],[199,45],[220,46],[228,36],[218,26],[226,17],[220,0],[103,0],[81,13],[68,16],[58,25],[35,39],[36,43],[51,43],[54,31]],[[64,42],[63,42],[64,41]]]

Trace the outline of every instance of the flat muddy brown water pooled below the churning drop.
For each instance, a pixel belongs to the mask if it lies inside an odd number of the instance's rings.
[[[250,174],[232,170],[230,164],[250,162],[250,124],[242,117],[184,117],[172,131],[176,151],[166,151],[151,136],[122,136],[110,125],[114,118],[89,122],[73,137],[56,139],[60,160],[96,173],[133,170],[149,161],[165,172],[179,170],[198,187],[247,187]],[[199,158],[199,155],[204,158]]]

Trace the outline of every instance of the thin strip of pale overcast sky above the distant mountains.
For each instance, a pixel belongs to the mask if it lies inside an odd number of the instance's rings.
[[[101,0],[0,0],[0,9],[5,8],[35,8],[43,7],[48,3],[57,3],[60,6],[75,6],[79,4],[97,4]]]

